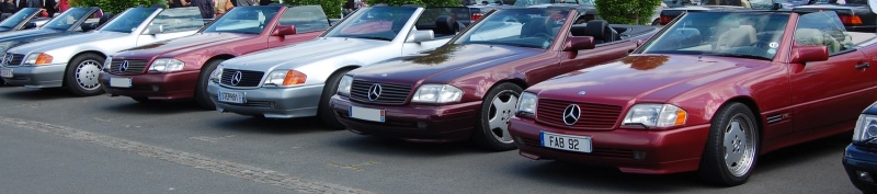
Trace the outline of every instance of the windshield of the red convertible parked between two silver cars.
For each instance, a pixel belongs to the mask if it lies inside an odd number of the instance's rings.
[[[205,33],[259,34],[280,11],[280,7],[235,8],[210,24]]]

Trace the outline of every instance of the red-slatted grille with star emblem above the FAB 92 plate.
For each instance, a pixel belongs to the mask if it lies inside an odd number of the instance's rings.
[[[578,104],[581,109],[581,116],[576,124],[567,125],[563,123],[563,110],[570,104]],[[622,114],[622,106],[577,103],[549,99],[539,99],[536,104],[536,122],[556,127],[580,129],[580,130],[608,130],[618,122]]]

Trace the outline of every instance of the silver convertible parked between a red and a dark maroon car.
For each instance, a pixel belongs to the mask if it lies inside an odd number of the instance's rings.
[[[207,92],[219,112],[270,118],[319,115],[330,127],[343,128],[329,98],[344,73],[447,43],[463,27],[454,20],[462,12],[468,9],[361,9],[314,41],[224,61]]]

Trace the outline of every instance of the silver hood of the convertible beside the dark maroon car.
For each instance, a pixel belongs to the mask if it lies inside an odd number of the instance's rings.
[[[391,44],[388,41],[319,37],[312,41],[257,52],[223,62],[225,68],[264,71],[276,67],[294,69],[315,61],[341,60],[345,54],[368,52]]]

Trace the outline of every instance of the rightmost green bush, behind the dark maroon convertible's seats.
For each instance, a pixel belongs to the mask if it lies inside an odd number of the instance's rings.
[[[600,18],[610,23],[650,24],[661,0],[596,0],[595,3]]]

